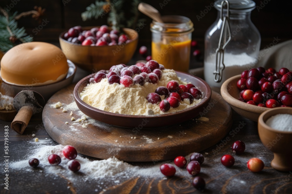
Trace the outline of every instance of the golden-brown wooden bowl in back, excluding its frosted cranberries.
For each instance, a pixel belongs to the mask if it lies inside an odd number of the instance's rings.
[[[82,27],[84,30],[91,28],[93,27]],[[124,28],[123,31],[132,40],[125,45],[82,46],[63,39],[67,31],[60,34],[59,41],[67,59],[84,70],[97,72],[108,70],[113,65],[126,64],[132,58],[138,44],[138,33],[128,28]]]

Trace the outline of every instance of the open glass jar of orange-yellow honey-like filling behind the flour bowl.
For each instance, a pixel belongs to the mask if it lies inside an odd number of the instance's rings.
[[[192,21],[184,16],[166,15],[162,17],[164,23],[152,21],[152,59],[167,69],[188,72]]]

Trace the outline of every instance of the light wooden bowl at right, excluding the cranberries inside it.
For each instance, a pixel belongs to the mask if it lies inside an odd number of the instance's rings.
[[[235,112],[245,118],[258,122],[260,114],[270,108],[255,106],[238,100],[240,98],[240,90],[237,88],[237,81],[240,78],[241,75],[236,75],[227,79],[221,86],[221,95]]]

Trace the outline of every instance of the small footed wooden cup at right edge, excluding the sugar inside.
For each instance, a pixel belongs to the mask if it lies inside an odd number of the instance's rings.
[[[290,146],[292,131],[279,131],[269,127],[265,122],[277,114],[292,115],[292,108],[272,108],[263,112],[258,118],[258,134],[267,149],[274,153],[271,166],[280,171],[292,170],[292,149]]]

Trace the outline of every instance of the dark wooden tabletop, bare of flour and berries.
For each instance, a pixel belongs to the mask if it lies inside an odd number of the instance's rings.
[[[137,54],[135,60],[140,60]],[[133,60],[133,61],[135,61]],[[132,62],[133,62],[132,61]],[[194,58],[192,67],[200,67],[202,63]],[[90,73],[90,72],[89,72]],[[88,72],[78,69],[74,81],[78,81]],[[32,134],[39,140],[50,139],[44,129],[41,114],[34,115],[23,135],[14,132],[10,122],[0,120],[1,145],[1,193],[199,193],[191,184],[192,176],[187,172],[185,176],[172,178],[131,177],[121,178],[117,186],[103,179],[80,182],[73,184],[66,177],[45,174],[41,169],[33,171],[9,169],[4,172],[4,128],[9,126],[9,162],[19,161],[27,157],[27,150],[32,149],[34,141]],[[241,156],[232,153],[231,145],[235,140],[242,140],[246,144],[246,151]],[[57,143],[55,143],[57,145]],[[289,146],[289,145],[287,145]],[[200,176],[206,181],[204,193],[292,193],[292,172],[279,172],[271,168],[272,152],[268,151],[261,143],[257,122],[241,117],[233,112],[233,124],[230,132],[216,145],[201,152],[205,162],[201,165]],[[224,154],[231,154],[235,158],[235,165],[231,168],[224,167],[220,158]],[[250,172],[246,167],[248,159],[258,157],[265,163],[265,168],[259,173]],[[171,161],[167,161],[171,162]],[[153,163],[131,163],[138,166],[152,166]],[[4,176],[9,173],[9,190],[4,189]],[[290,175],[290,176],[289,176]],[[105,182],[106,183],[106,182]],[[108,186],[104,186],[108,185]]]

